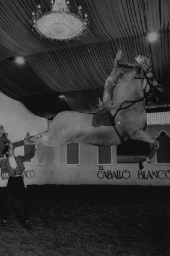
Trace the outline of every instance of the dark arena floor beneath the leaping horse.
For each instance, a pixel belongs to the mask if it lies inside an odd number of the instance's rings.
[[[170,255],[170,187],[47,185],[28,192],[33,230],[11,211],[0,227],[0,255]]]

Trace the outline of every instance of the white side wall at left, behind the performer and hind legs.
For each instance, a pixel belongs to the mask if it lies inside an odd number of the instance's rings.
[[[19,101],[0,93],[0,125],[4,125],[11,142],[23,140],[29,131],[30,136],[42,133],[47,130],[47,119],[35,116],[28,111]],[[47,148],[45,148],[45,164],[37,165],[37,152],[32,158],[31,164],[25,164],[24,181],[26,184],[46,184],[47,183]],[[15,155],[23,155],[24,147],[16,148]],[[31,172],[32,170],[32,172]],[[26,178],[27,176],[27,178]],[[34,178],[31,178],[34,176]],[[7,180],[0,178],[0,186],[6,186]]]

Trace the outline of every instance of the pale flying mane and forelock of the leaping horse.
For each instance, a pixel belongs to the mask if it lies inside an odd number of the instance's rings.
[[[121,63],[121,57],[123,56],[123,52],[121,49],[118,50],[117,55],[114,61],[114,70],[111,72],[111,75],[107,78],[104,93],[103,93],[103,101],[99,99],[99,110],[109,111],[111,110],[114,104],[114,92],[115,87],[121,80],[124,74],[130,72],[130,70],[136,68],[137,70],[144,70],[144,72],[151,71],[151,62],[148,58],[138,55],[135,60],[136,62],[124,62]]]

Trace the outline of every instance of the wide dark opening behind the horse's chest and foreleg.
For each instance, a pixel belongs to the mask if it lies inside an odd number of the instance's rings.
[[[117,145],[117,163],[139,163],[150,152],[150,143],[129,140]]]

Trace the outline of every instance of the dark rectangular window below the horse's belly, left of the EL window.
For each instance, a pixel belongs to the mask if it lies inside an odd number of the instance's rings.
[[[66,164],[79,164],[79,143],[66,145]]]

